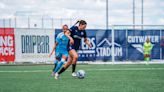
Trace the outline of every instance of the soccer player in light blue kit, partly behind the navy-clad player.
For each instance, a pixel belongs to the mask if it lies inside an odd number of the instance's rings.
[[[56,60],[54,61],[54,69],[52,71],[52,75],[55,74],[55,79],[58,79],[57,72],[62,67],[64,62],[68,57],[68,49],[67,46],[69,44],[73,45],[74,40],[70,36],[70,31],[67,25],[63,25],[63,32],[59,33],[56,37],[56,42],[54,44],[53,50],[50,53],[49,57],[55,51]]]

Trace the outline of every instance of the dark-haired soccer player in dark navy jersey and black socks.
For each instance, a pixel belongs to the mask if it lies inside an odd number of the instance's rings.
[[[79,23],[78,26],[72,26],[70,28],[70,32],[71,32],[71,37],[74,40],[74,44],[70,45],[68,47],[69,50],[69,58],[67,63],[63,66],[63,68],[59,71],[58,75],[60,75],[62,72],[64,72],[71,64],[72,64],[72,76],[75,77],[76,73],[75,73],[75,69],[76,69],[76,62],[78,60],[78,53],[77,50],[79,50],[80,44],[81,44],[81,39],[84,38],[84,42],[91,47],[92,45],[90,44],[90,42],[87,39],[87,34],[86,34],[86,26],[87,26],[87,22],[84,20],[80,20],[77,23]],[[76,23],[76,24],[77,24]]]

